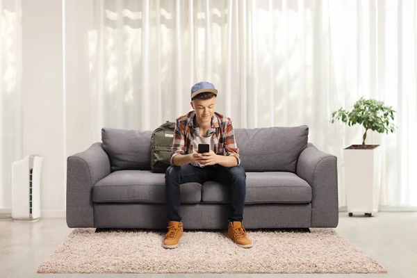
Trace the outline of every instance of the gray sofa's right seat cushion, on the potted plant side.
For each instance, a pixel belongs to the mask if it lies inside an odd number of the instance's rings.
[[[229,203],[230,186],[207,181],[203,202]],[[311,202],[311,186],[291,172],[246,172],[245,204],[305,204]]]

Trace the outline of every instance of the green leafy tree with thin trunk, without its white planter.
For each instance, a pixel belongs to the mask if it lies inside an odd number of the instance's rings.
[[[396,126],[394,125],[395,110],[392,106],[385,106],[383,101],[375,99],[365,99],[361,97],[353,104],[353,108],[345,111],[343,107],[332,113],[332,124],[334,120],[341,120],[349,126],[361,124],[365,128],[363,133],[362,145],[365,145],[366,132],[368,129],[379,133],[393,133]]]

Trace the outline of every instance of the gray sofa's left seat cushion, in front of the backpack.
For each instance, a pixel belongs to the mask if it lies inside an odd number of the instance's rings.
[[[202,185],[183,183],[181,203],[202,200]],[[92,187],[92,202],[165,203],[165,174],[141,170],[121,170],[109,174]]]

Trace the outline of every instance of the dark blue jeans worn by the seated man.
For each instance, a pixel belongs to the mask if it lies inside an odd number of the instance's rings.
[[[246,197],[246,172],[243,167],[223,167],[221,165],[195,167],[187,164],[170,166],[165,172],[165,197],[167,217],[170,221],[181,221],[179,214],[179,185],[181,183],[217,181],[230,186],[231,214],[229,221],[243,220],[243,206]]]

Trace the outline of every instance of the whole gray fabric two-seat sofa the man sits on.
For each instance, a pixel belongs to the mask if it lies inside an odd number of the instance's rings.
[[[235,129],[247,174],[246,229],[336,227],[336,156],[308,126]],[[150,170],[152,131],[104,128],[102,142],[67,158],[70,228],[166,229],[165,174]],[[184,229],[227,229],[227,184],[181,184]]]

